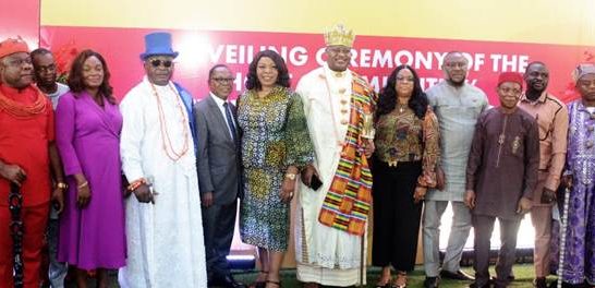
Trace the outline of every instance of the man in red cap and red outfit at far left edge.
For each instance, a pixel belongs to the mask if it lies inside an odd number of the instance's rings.
[[[58,211],[62,209],[66,188],[54,145],[51,101],[32,83],[27,44],[10,38],[1,41],[0,287],[39,287],[51,195],[50,164]],[[14,232],[22,236],[13,238]],[[15,250],[21,250],[17,255],[13,254]]]

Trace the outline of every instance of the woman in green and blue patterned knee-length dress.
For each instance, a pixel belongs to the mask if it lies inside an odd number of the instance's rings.
[[[260,51],[250,64],[247,91],[238,103],[244,166],[240,235],[258,248],[262,273],[256,287],[280,285],[295,181],[314,160],[301,98],[289,87],[283,59],[275,51]]]

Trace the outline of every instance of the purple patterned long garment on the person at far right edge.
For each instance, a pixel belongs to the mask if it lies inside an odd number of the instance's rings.
[[[573,176],[570,192],[563,280],[595,284],[595,113],[588,112],[582,100],[568,107],[567,167]]]

